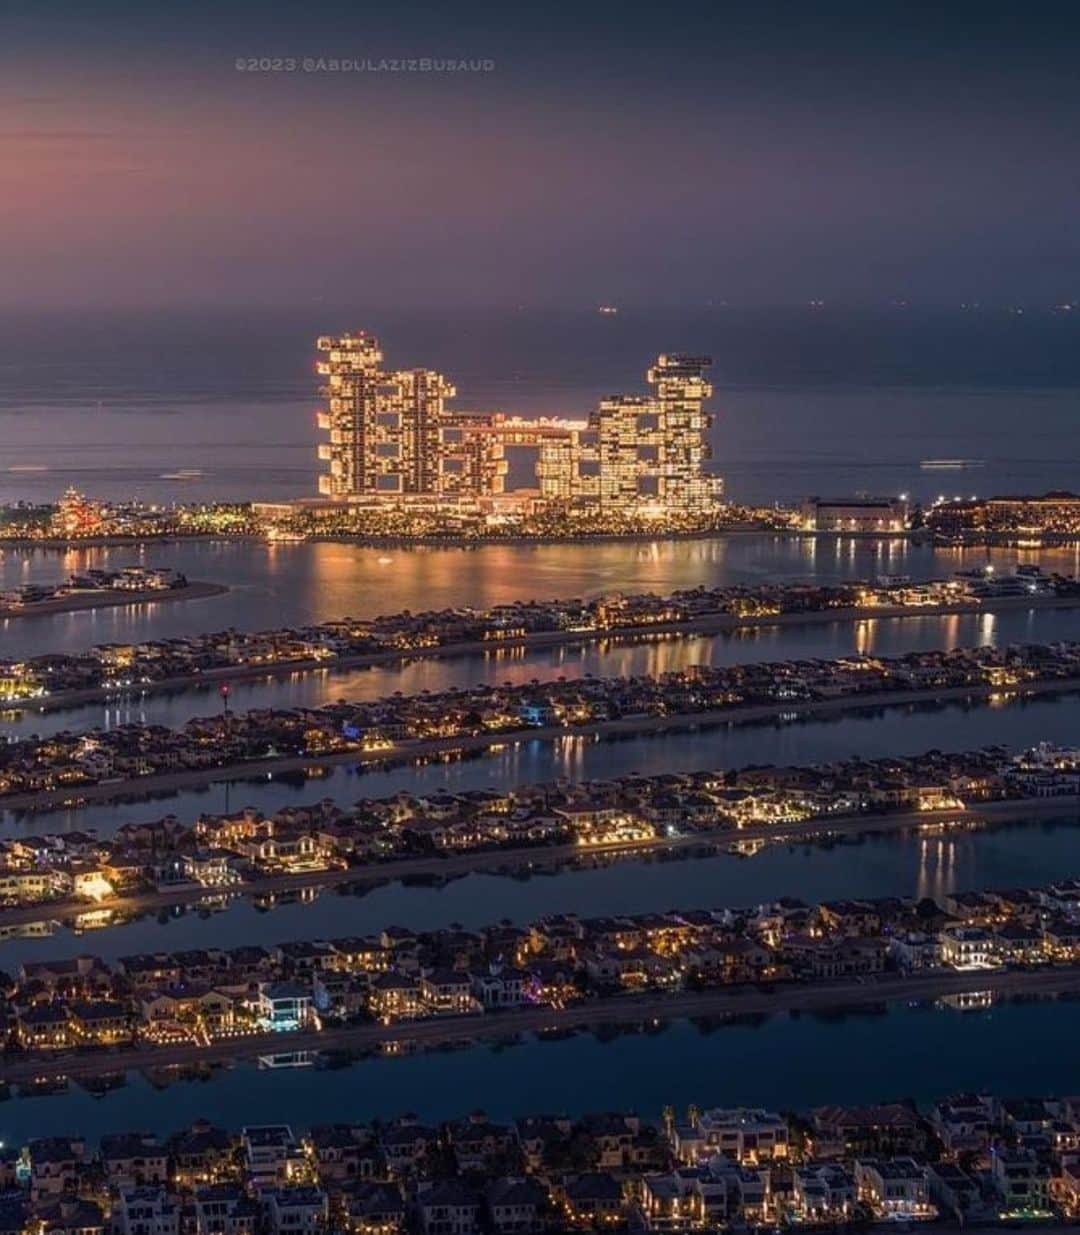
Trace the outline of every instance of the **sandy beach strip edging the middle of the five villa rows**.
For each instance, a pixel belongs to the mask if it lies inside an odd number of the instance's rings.
[[[759,824],[749,827],[713,829],[685,836],[657,836],[650,840],[618,845],[552,845],[517,848],[477,850],[450,856],[405,858],[393,862],[368,863],[334,871],[303,871],[293,874],[262,876],[230,888],[205,888],[185,884],[162,892],[146,892],[130,897],[109,897],[105,900],[53,900],[37,905],[0,909],[0,931],[41,921],[63,921],[90,910],[109,910],[117,915],[156,913],[178,905],[195,905],[222,897],[259,897],[288,894],[305,888],[340,888],[344,885],[381,885],[400,879],[451,879],[467,874],[500,874],[541,871],[591,857],[644,857],[650,853],[677,853],[693,850],[714,852],[735,842],[771,841],[791,844],[835,836],[863,836],[897,832],[909,829],[932,829],[960,823],[963,826],[1022,823],[1028,819],[1068,818],[1080,811],[1080,795],[1057,798],[1026,798],[1008,802],[987,802],[968,810],[888,811],[882,814],[830,815],[807,819],[796,824]],[[117,924],[122,925],[122,924]]]

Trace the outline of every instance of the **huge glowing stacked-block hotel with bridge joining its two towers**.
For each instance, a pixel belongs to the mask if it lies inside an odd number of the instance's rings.
[[[571,515],[701,516],[722,495],[706,472],[707,357],[661,356],[651,394],[604,399],[588,420],[525,420],[447,410],[455,389],[445,377],[383,371],[378,342],[362,332],[318,346],[326,498],[489,501],[505,494],[507,448],[517,446],[536,450],[526,493]]]

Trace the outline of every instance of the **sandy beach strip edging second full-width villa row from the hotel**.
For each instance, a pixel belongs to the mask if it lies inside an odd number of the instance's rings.
[[[1029,680],[1017,685],[965,684],[918,690],[885,690],[839,695],[829,699],[792,699],[782,703],[733,705],[711,711],[672,713],[666,716],[634,715],[618,720],[591,720],[578,725],[538,725],[463,734],[450,737],[405,739],[376,750],[337,751],[321,755],[259,756],[214,767],[187,768],[150,776],[93,782],[86,785],[11,793],[0,798],[0,809],[46,810],[52,806],[78,806],[88,802],[111,802],[142,794],[168,794],[198,788],[220,781],[241,781],[248,777],[272,777],[279,773],[352,763],[389,767],[415,760],[462,756],[502,748],[515,742],[554,742],[566,737],[602,739],[634,737],[646,734],[686,730],[723,729],[729,725],[750,725],[783,719],[796,721],[821,716],[839,716],[880,708],[935,705],[943,703],[981,701],[989,698],[1033,698],[1059,695],[1080,690],[1080,677]]]

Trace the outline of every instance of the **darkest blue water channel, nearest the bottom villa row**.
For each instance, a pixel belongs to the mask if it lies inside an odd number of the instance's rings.
[[[478,1045],[351,1067],[258,1071],[243,1065],[154,1089],[146,1079],[104,1098],[67,1093],[4,1108],[5,1139],[145,1128],[166,1134],[205,1118],[232,1128],[289,1120],[295,1129],[413,1112],[442,1120],[477,1108],[493,1119],[529,1113],[636,1110],[691,1103],[808,1110],[958,1091],[1069,1093],[1080,1002],[996,1004],[960,1013],[892,1005],[845,1015],[777,1015],[730,1025],[651,1024],[557,1040]],[[1016,1050],[1038,1042],[1038,1051]],[[888,1061],[887,1070],[882,1061]],[[808,1066],[808,1061],[813,1061]],[[163,1078],[158,1079],[161,1083]],[[12,1135],[14,1131],[14,1135]]]

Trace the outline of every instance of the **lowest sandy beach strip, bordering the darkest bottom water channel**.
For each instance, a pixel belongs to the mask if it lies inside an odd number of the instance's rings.
[[[613,995],[568,1008],[508,1009],[475,1016],[440,1016],[395,1025],[345,1025],[321,1032],[264,1032],[209,1045],[136,1046],[86,1053],[10,1058],[0,1062],[0,1082],[28,1084],[67,1077],[85,1079],[140,1068],[225,1063],[293,1051],[369,1051],[388,1044],[439,1046],[478,1037],[513,1037],[582,1029],[589,1025],[635,1024],[686,1018],[767,1016],[776,1013],[828,1011],[947,995],[991,992],[1011,998],[1052,997],[1080,989],[1080,965],[1045,969],[980,969],[969,972],[879,976],[863,981],[777,986],[774,989],[728,987],[678,994]]]

